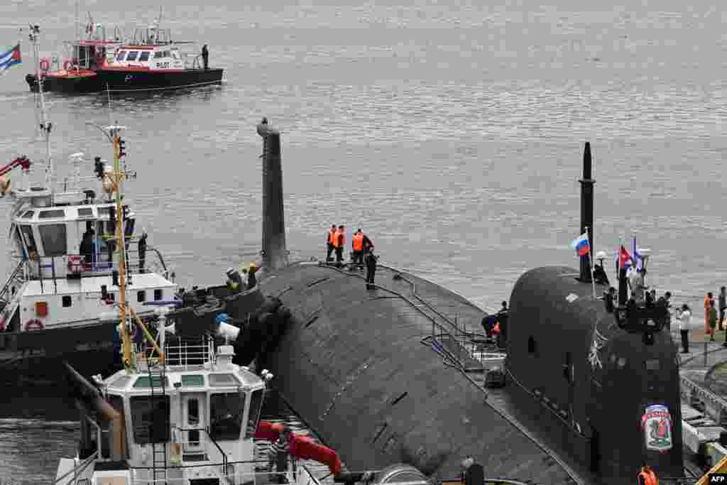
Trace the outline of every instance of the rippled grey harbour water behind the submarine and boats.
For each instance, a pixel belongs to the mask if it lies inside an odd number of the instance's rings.
[[[677,302],[699,305],[726,284],[720,7],[228,3],[164,4],[175,38],[209,44],[211,64],[227,69],[223,87],[113,96],[139,175],[127,197],[182,286],[217,284],[260,251],[262,116],[282,133],[293,260],[322,257],[332,223],[362,227],[387,264],[497,308],[524,270],[577,266],[569,242],[590,140],[595,249],[610,257],[636,236],[653,251],[649,282]],[[127,29],[157,15],[139,1],[86,9]],[[72,1],[12,1],[0,13],[7,47],[28,23],[41,25],[44,54],[73,36]],[[23,65],[0,77],[7,161],[44,153],[27,41],[21,49]],[[105,96],[50,95],[49,118],[61,174],[77,151],[110,158],[85,125],[108,122]],[[73,454],[75,409],[48,385],[2,394],[0,481],[48,481]]]

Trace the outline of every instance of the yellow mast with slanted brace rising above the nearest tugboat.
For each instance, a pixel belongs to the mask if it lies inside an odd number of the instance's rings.
[[[119,310],[119,320],[121,321],[121,342],[123,342],[124,367],[129,374],[133,374],[136,370],[137,363],[134,353],[132,353],[130,329],[132,328],[132,325],[134,325],[134,321],[138,326],[140,326],[140,329],[144,332],[146,339],[152,343],[154,350],[158,353],[159,364],[164,365],[164,353],[160,350],[158,345],[156,345],[156,340],[151,336],[145,324],[140,320],[136,312],[134,312],[134,309],[126,305],[126,285],[131,283],[131,274],[129,273],[127,276],[126,273],[126,262],[128,258],[126,254],[126,241],[124,236],[125,214],[124,206],[122,204],[124,199],[123,181],[129,177],[135,177],[136,174],[126,170],[125,162],[124,169],[121,169],[121,159],[126,158],[126,151],[124,148],[125,142],[121,139],[120,133],[122,130],[126,129],[126,127],[122,127],[119,124],[112,124],[108,127],[102,127],[93,122],[87,122],[87,124],[100,129],[113,145],[113,171],[104,171],[102,177],[111,183],[111,193],[113,193],[116,201],[116,208],[115,211],[113,211],[114,215],[112,216],[112,220],[113,218],[116,219],[116,231],[114,236],[116,249],[113,252],[113,258],[119,263],[119,302],[116,304],[116,307]],[[165,318],[160,319],[162,324],[162,348],[164,348],[164,320]]]

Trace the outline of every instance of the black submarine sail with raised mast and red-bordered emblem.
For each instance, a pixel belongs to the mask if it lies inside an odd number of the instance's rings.
[[[580,231],[591,231],[588,144],[584,162]],[[516,402],[557,418],[559,446],[590,468],[595,483],[635,483],[643,464],[660,478],[682,476],[677,348],[668,332],[647,339],[619,323],[624,309],[593,297],[583,263],[529,270],[513,288],[506,366]],[[595,287],[596,294],[608,289]]]

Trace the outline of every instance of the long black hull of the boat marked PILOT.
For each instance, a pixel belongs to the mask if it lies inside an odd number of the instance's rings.
[[[224,69],[185,69],[182,71],[145,71],[127,69],[98,69],[83,76],[44,77],[43,90],[68,94],[103,92],[134,92],[222,84]],[[25,81],[32,92],[38,91],[36,76],[28,74]]]

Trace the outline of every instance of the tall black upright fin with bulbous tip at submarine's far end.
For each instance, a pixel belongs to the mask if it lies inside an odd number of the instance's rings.
[[[262,137],[262,265],[278,270],[288,265],[285,246],[283,207],[283,170],[281,166],[280,132],[268,126],[263,118],[257,125]]]

